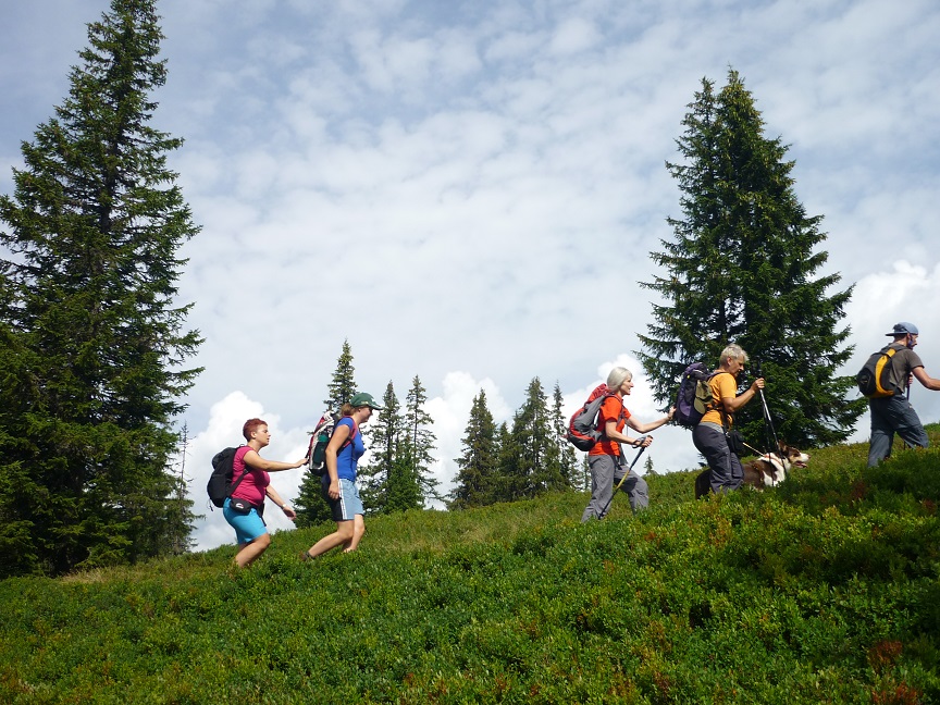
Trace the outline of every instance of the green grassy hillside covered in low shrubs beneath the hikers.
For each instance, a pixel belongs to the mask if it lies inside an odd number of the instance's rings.
[[[928,429],[940,445],[940,429]],[[940,450],[814,454],[764,493],[603,522],[564,494],[0,583],[3,703],[940,702]]]

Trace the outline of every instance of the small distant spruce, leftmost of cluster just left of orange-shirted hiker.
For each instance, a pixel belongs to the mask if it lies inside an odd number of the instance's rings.
[[[499,447],[496,423],[486,406],[483,389],[473,398],[462,446],[463,455],[456,459],[459,470],[447,508],[467,509],[493,504]]]

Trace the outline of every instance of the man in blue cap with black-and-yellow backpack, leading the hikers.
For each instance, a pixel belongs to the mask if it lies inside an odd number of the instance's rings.
[[[891,455],[896,433],[911,447],[926,448],[930,442],[920,418],[911,406],[910,386],[914,378],[928,389],[940,392],[940,380],[935,380],[924,370],[920,356],[914,351],[917,345],[917,326],[913,323],[896,323],[891,333],[892,343],[882,348],[887,356],[887,396],[869,396],[871,411],[871,441],[868,447],[868,467],[875,467]],[[905,392],[907,394],[905,395]]]

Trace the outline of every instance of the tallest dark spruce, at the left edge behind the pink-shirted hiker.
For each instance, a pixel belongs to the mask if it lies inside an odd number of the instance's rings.
[[[0,197],[2,574],[135,561],[191,530],[169,459],[200,371],[175,301],[199,228],[166,168],[182,140],[150,126],[162,38],[152,0],[112,0]]]

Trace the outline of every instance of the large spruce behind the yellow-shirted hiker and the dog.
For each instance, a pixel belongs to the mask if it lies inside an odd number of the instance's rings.
[[[665,268],[644,286],[663,302],[640,336],[640,359],[657,400],[668,404],[692,360],[717,366],[728,343],[758,369],[778,437],[801,447],[844,441],[864,410],[846,400],[853,379],[836,372],[849,359],[840,327],[852,287],[838,274],[815,276],[828,255],[821,217],[808,217],[794,191],[788,147],[764,136],[764,121],[738,73],[715,94],[703,79],[677,140],[682,163],[667,163],[682,191],[675,239],[651,253]],[[814,277],[815,276],[815,277]],[[742,383],[743,379],[740,380]],[[766,441],[762,404],[738,423],[752,443]]]

